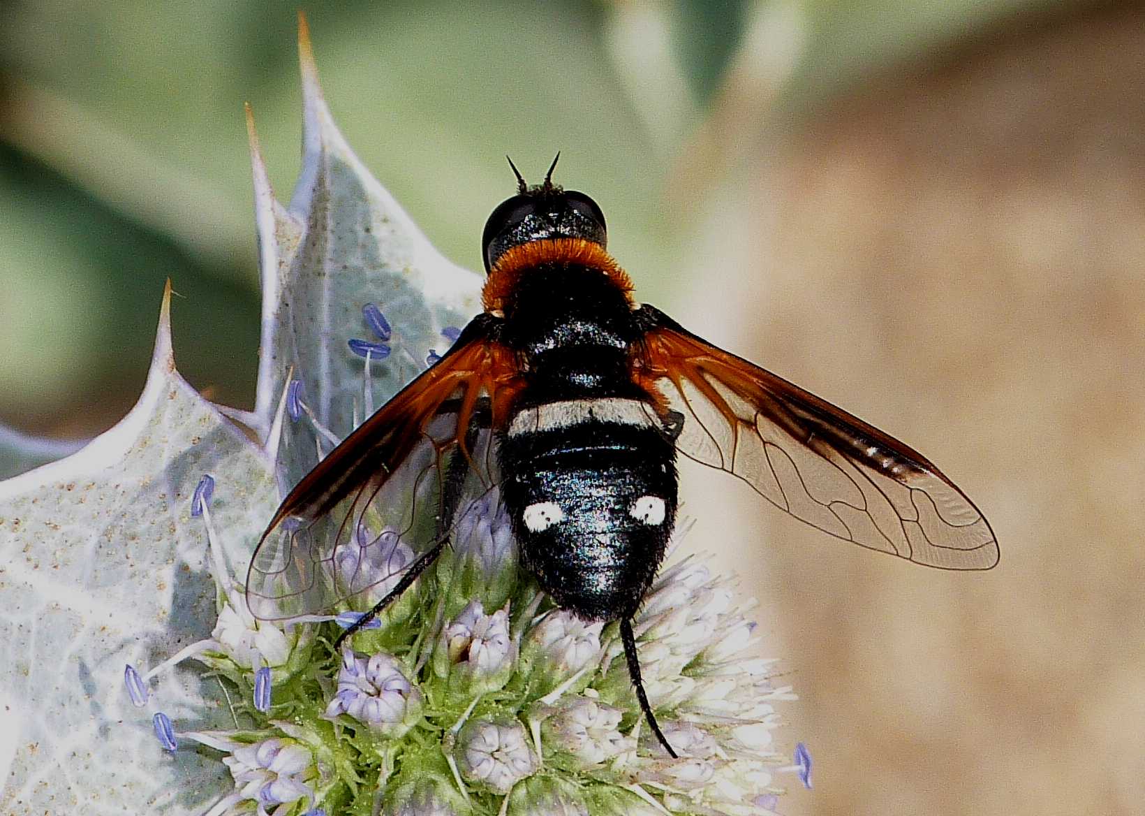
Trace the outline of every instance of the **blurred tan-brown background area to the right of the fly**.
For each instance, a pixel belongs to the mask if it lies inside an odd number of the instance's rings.
[[[1142,88],[1139,8],[1016,18],[749,171],[741,347],[927,452],[1002,547],[935,573],[752,517],[806,813],[1145,813]]]

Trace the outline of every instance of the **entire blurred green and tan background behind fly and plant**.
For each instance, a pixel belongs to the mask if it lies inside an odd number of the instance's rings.
[[[816,786],[784,813],[1145,813],[1140,6],[308,11],[350,143],[459,262],[502,155],[560,148],[645,299],[923,450],[990,519],[1000,567],[941,573],[687,474],[688,547],[760,598],[802,696],[779,738]],[[239,105],[285,193],[292,11],[8,14],[0,418],[110,425],[168,274],[181,367],[248,405]]]

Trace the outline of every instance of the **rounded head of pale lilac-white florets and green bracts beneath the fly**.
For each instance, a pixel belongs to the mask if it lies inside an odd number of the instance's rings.
[[[258,802],[297,806],[297,814],[356,813],[380,803],[382,813],[410,816],[643,807],[739,816],[771,801],[766,797],[780,790],[776,771],[791,769],[800,779],[810,772],[805,752],[788,768],[774,753],[772,706],[791,695],[773,685],[766,661],[744,654],[752,627],[727,581],[690,560],[671,565],[635,620],[652,705],[678,754],[672,759],[635,705],[616,625],[555,607],[522,579],[512,555],[500,565],[507,574],[499,574],[481,556],[506,546],[498,540],[499,504],[476,503],[467,512],[466,544],[442,556],[439,580],[420,590],[421,611],[378,630],[386,649],[346,645],[331,653],[317,644],[332,642],[340,617],[256,621],[234,579],[219,579],[224,599],[216,637],[195,657],[250,688],[238,709],[254,727],[206,743],[229,752],[223,761],[235,780],[212,810]],[[210,511],[204,523],[211,524]],[[355,568],[389,575],[395,558],[404,565],[413,557],[388,531],[360,532],[360,543]],[[448,593],[441,581],[452,586],[467,568],[505,582],[513,601],[488,611],[473,599],[442,617]],[[125,683],[132,700],[140,699],[139,673],[126,670]],[[285,711],[293,712],[290,725],[275,719]],[[159,723],[159,715],[156,733],[168,751],[187,737],[206,740],[177,732],[166,717]],[[586,785],[592,795],[584,794]]]

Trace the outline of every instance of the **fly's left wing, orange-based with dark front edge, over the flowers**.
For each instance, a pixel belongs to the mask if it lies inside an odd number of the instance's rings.
[[[472,330],[477,320],[283,501],[247,572],[256,618],[372,604],[448,532],[440,516],[451,461],[464,457],[463,474],[492,485],[489,429],[518,385],[511,354]]]

